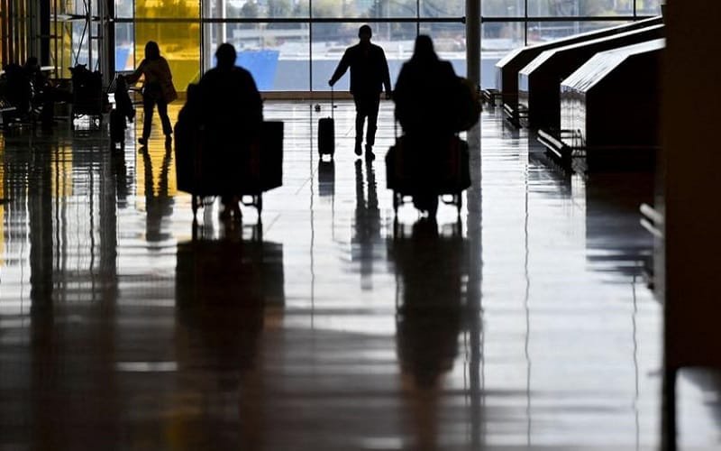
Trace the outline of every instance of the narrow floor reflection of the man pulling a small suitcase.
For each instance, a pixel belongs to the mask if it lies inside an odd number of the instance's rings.
[[[363,185],[368,188],[368,197]],[[351,241],[353,260],[360,260],[360,286],[363,290],[373,288],[373,260],[375,245],[380,243],[380,210],[376,191],[376,174],[372,162],[366,165],[366,179],[363,180],[363,163],[355,161],[355,235]]]

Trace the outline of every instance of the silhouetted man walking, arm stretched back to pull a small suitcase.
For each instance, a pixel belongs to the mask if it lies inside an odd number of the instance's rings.
[[[376,141],[380,92],[386,87],[386,98],[390,98],[390,74],[386,53],[378,45],[370,43],[370,26],[363,25],[358,31],[360,42],[346,49],[338,68],[328,84],[333,86],[351,68],[351,94],[355,101],[355,154],[362,153],[363,124],[368,116],[366,136],[366,158],[373,158],[373,144]]]

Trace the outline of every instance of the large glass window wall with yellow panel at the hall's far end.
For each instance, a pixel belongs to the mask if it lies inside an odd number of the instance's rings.
[[[263,91],[325,91],[342,52],[369,23],[384,48],[391,78],[410,58],[418,32],[465,73],[465,0],[114,0],[116,69],[137,66],[146,41],[160,43],[179,90],[214,66],[231,42],[238,63]],[[483,0],[481,75],[507,51],[659,14],[660,0]],[[617,19],[615,19],[617,18]],[[558,20],[555,20],[558,19]],[[75,32],[72,32],[74,34]],[[202,59],[202,60],[201,60]],[[337,89],[347,89],[348,77]]]

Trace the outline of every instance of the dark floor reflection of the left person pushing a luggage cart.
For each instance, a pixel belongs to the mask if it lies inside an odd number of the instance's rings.
[[[201,235],[178,244],[178,364],[195,370],[197,377],[187,391],[196,391],[201,405],[213,406],[191,412],[197,411],[198,419],[214,416],[204,423],[206,428],[188,428],[184,438],[197,445],[188,449],[207,449],[208,443],[219,449],[236,443],[261,449],[266,419],[257,361],[263,328],[278,321],[285,302],[283,248],[244,240],[242,227],[224,227],[222,232],[221,239]],[[208,379],[209,374],[218,377]],[[231,423],[237,424],[240,442],[222,432]]]

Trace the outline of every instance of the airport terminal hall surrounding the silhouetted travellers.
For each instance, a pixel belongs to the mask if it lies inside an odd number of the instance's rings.
[[[721,5],[0,5],[0,450],[721,449]],[[435,217],[391,180],[394,101],[370,158],[349,74],[329,96],[363,23],[394,86],[425,33],[478,87],[470,187]],[[240,220],[180,182],[157,115],[138,143],[137,102],[110,138],[151,39],[172,124],[223,41],[283,124],[282,182]],[[109,106],[19,114],[5,69],[36,55]]]

